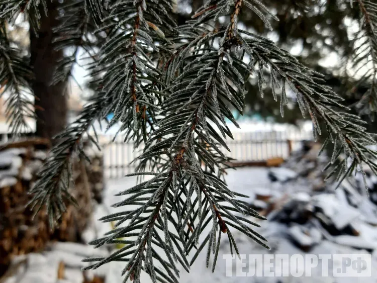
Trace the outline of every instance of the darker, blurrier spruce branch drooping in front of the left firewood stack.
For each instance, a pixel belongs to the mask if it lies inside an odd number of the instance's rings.
[[[83,138],[88,138],[100,148],[93,124],[105,119],[111,105],[111,99],[105,98],[102,94],[100,91],[100,95],[92,97],[84,106],[79,117],[68,125],[65,131],[55,137],[59,143],[51,149],[50,155],[39,171],[38,179],[30,191],[33,198],[29,205],[36,208],[35,213],[46,205],[51,228],[55,226],[55,220],[65,212],[66,202],[75,203],[69,192],[72,185],[74,186],[71,183],[74,155],[78,154],[90,161],[83,149]],[[93,134],[89,132],[90,129]]]

